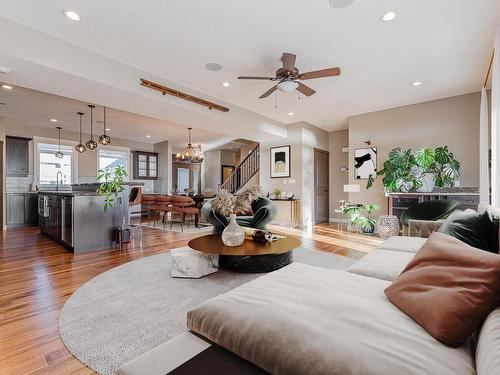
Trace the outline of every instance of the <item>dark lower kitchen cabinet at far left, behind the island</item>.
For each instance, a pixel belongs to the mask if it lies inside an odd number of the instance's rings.
[[[7,227],[38,225],[37,194],[7,193]]]

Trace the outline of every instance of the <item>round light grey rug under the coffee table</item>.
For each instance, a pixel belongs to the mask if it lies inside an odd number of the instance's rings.
[[[298,249],[296,262],[346,269],[355,260]],[[66,301],[59,333],[68,350],[100,374],[185,332],[186,313],[259,274],[219,271],[201,279],[170,277],[170,253],[113,268],[82,285]]]

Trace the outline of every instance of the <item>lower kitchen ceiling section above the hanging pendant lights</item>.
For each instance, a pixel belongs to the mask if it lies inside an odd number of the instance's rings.
[[[89,103],[51,95],[35,90],[15,87],[13,90],[0,91],[0,116],[14,124],[53,128],[61,126],[65,131],[78,132],[79,118],[77,112],[84,112],[83,131],[90,133]],[[50,119],[58,120],[57,123]],[[96,106],[94,110],[94,134],[103,132],[103,108]],[[140,116],[134,113],[106,109],[106,123],[110,137],[135,140],[143,143],[158,143],[164,140],[172,142],[173,147],[185,147],[188,138],[187,127]],[[147,137],[149,135],[150,137]],[[218,147],[222,134],[203,129],[192,131],[195,144],[202,144],[204,149]],[[227,141],[227,140],[225,140]]]

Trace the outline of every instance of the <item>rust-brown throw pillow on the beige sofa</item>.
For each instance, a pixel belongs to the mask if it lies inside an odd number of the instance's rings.
[[[433,233],[385,295],[434,338],[460,345],[500,304],[500,255]]]

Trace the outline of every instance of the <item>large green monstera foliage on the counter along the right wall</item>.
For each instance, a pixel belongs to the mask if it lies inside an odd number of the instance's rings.
[[[455,159],[448,146],[435,149],[423,148],[415,155],[411,149],[394,148],[389,152],[384,167],[377,172],[383,176],[382,184],[387,193],[419,190],[432,181],[430,190],[437,187],[453,187],[460,176],[460,162]],[[372,187],[374,176],[370,175],[366,188]]]

